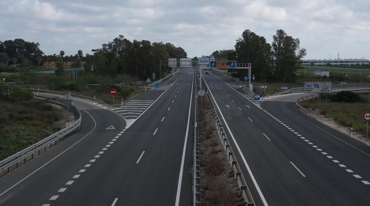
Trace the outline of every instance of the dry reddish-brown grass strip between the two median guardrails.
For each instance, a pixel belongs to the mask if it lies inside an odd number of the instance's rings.
[[[198,85],[199,88],[199,85]],[[201,204],[235,206],[241,202],[234,171],[218,138],[206,96],[199,105],[199,154],[201,170]]]

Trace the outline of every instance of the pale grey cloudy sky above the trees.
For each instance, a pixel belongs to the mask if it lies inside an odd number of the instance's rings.
[[[0,0],[0,8],[0,41],[39,42],[47,55],[91,53],[122,34],[199,57],[233,49],[245,29],[269,43],[283,29],[306,59],[370,58],[369,0]]]

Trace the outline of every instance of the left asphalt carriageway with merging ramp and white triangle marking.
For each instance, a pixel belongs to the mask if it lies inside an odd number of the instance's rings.
[[[73,98],[80,132],[1,178],[0,205],[191,205],[194,69],[161,84],[112,110]]]

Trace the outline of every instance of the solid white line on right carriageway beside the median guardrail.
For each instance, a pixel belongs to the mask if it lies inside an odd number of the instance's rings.
[[[207,84],[207,82],[205,81],[205,79],[204,79],[204,78],[203,78],[203,80],[204,80],[204,83],[206,84],[206,86],[208,87],[208,84]],[[221,80],[221,81],[222,81],[222,80]],[[232,88],[232,87],[231,87],[231,88]],[[261,200],[262,200],[262,202],[263,202],[263,205],[268,206],[268,204],[267,204],[267,202],[266,202],[266,199],[265,199],[265,196],[263,196],[262,191],[261,191],[261,189],[259,188],[259,186],[258,186],[258,184],[257,184],[257,181],[256,181],[256,179],[255,179],[255,177],[254,177],[254,175],[253,175],[253,173],[252,173],[252,170],[250,170],[249,165],[248,165],[247,161],[245,160],[245,157],[244,157],[244,155],[243,155],[243,153],[242,153],[242,150],[240,150],[240,147],[239,147],[238,143],[236,143],[236,140],[235,140],[235,138],[234,138],[234,135],[232,134],[232,132],[231,132],[231,130],[230,130],[230,128],[229,128],[228,123],[225,121],[225,118],[224,118],[224,117],[223,117],[223,115],[222,115],[221,109],[218,107],[218,104],[217,104],[217,102],[216,102],[216,99],[215,99],[215,97],[213,97],[213,94],[212,94],[211,90],[209,89],[209,87],[208,87],[208,91],[209,91],[209,94],[211,94],[211,95],[212,95],[213,102],[215,102],[216,107],[218,108],[218,111],[220,112],[220,115],[221,115],[221,117],[222,117],[222,119],[223,119],[223,122],[225,122],[225,126],[226,126],[226,128],[228,129],[228,131],[229,131],[229,133],[230,133],[230,136],[231,136],[232,140],[233,140],[233,141],[234,141],[234,143],[235,143],[236,149],[238,149],[238,152],[239,152],[239,154],[240,154],[240,157],[242,157],[242,160],[243,160],[243,162],[244,162],[244,164],[245,164],[245,167],[246,167],[246,168],[247,168],[247,170],[248,170],[249,176],[250,176],[250,178],[252,179],[253,184],[255,185],[255,187],[256,187],[256,189],[257,189],[257,192],[258,192],[258,194],[259,194],[259,196],[260,196],[260,198],[261,198]],[[236,91],[236,90],[235,90],[235,91]],[[239,94],[240,94],[240,93],[239,93]]]

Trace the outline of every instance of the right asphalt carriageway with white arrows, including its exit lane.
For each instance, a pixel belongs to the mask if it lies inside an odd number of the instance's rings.
[[[370,148],[300,112],[303,94],[256,102],[202,74],[256,205],[369,205]]]

